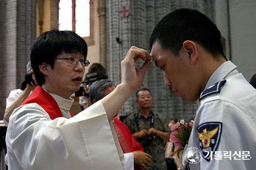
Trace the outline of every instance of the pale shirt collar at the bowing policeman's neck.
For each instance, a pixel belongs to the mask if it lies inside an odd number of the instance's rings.
[[[218,81],[225,79],[230,72],[238,73],[238,70],[236,68],[237,66],[234,65],[231,61],[226,61],[223,64],[221,64],[210,76],[204,90],[210,87],[211,85],[217,83]]]

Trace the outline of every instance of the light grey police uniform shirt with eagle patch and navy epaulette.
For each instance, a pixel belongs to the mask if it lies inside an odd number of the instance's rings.
[[[199,148],[202,157],[189,169],[256,167],[256,90],[236,67],[223,63],[201,93],[187,148]]]

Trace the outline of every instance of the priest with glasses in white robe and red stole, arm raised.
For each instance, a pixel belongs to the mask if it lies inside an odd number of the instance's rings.
[[[87,51],[86,42],[72,31],[45,32],[33,43],[30,58],[39,86],[10,117],[9,169],[125,169],[112,119],[143,82],[151,56],[131,47],[121,63],[121,83],[74,116],[70,96],[90,63]],[[144,63],[135,68],[139,58]]]

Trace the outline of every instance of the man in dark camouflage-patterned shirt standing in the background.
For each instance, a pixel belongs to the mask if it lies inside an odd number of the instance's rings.
[[[136,91],[136,103],[139,110],[126,117],[124,124],[142,145],[144,152],[152,156],[152,164],[148,169],[166,169],[164,146],[165,141],[169,141],[166,119],[162,114],[151,110],[153,101],[148,88]]]

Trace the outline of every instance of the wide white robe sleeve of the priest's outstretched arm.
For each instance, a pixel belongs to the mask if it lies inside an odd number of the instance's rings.
[[[72,118],[54,120],[35,103],[20,106],[11,115],[7,130],[9,167],[124,169],[111,127],[100,101]]]

